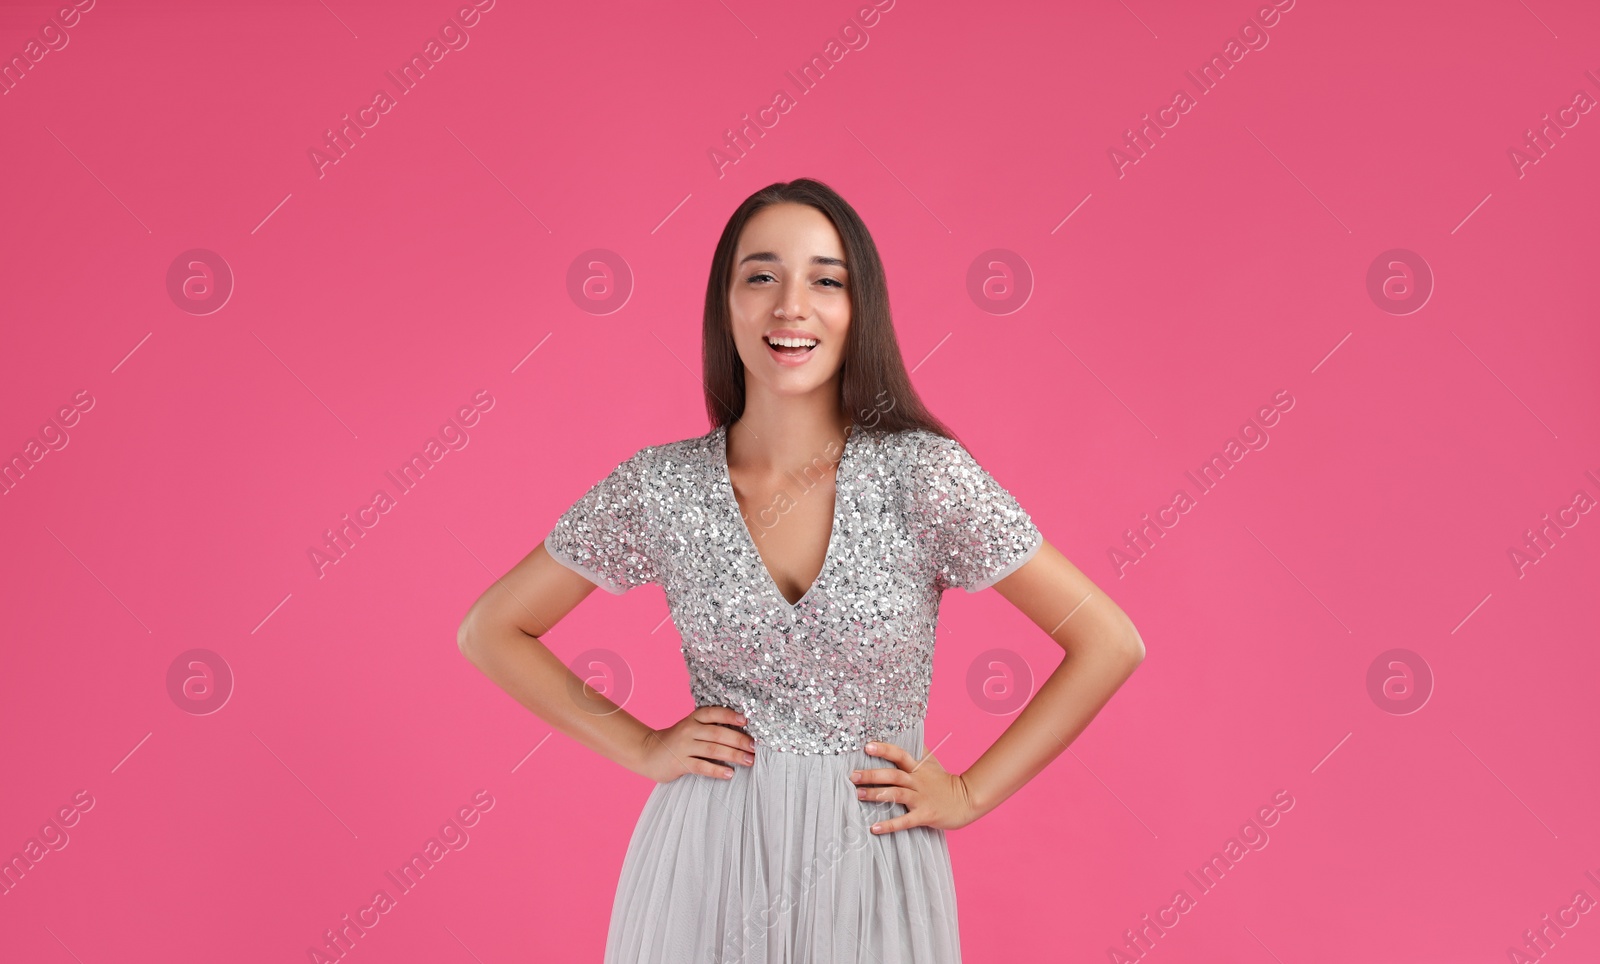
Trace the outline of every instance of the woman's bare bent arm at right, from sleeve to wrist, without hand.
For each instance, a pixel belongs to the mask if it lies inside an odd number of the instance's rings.
[[[1048,541],[994,589],[1066,657],[962,775],[974,817],[998,807],[1050,765],[1144,660],[1144,641],[1128,615]]]

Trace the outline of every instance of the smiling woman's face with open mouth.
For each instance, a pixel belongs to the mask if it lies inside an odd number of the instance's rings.
[[[733,253],[728,311],[747,392],[762,386],[778,396],[837,394],[850,330],[850,272],[834,223],[802,203],[757,211]]]

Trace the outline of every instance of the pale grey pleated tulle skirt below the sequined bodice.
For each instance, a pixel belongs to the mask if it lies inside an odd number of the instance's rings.
[[[922,756],[923,724],[885,733]],[[866,749],[755,749],[733,778],[658,783],[622,860],[605,964],[955,964],[942,829],[867,828],[906,813],[856,799]]]

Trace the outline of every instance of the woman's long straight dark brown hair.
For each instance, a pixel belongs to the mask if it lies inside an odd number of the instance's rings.
[[[706,413],[712,428],[731,424],[744,415],[744,362],[733,343],[728,312],[728,288],[739,232],[757,211],[784,202],[822,211],[845,245],[845,267],[850,272],[850,328],[845,335],[840,408],[850,415],[851,423],[866,431],[926,429],[955,439],[955,434],[928,412],[910,384],[899,341],[894,338],[894,322],[890,319],[890,290],[883,277],[883,261],[878,259],[878,248],[872,243],[866,223],[838,192],[811,178],[778,181],[744,199],[717,240],[710,277],[706,280],[701,344]]]

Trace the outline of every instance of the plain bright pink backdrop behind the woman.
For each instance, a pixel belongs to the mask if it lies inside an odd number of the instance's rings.
[[[1507,154],[1600,98],[1600,11],[1301,0],[1200,94],[1186,70],[1258,3],[1069,6],[901,0],[808,93],[786,72],[858,5],[501,0],[405,94],[386,70],[454,0],[82,13],[0,96],[0,453],[94,400],[0,496],[0,854],[93,807],[0,897],[0,956],[307,959],[488,791],[354,953],[597,961],[651,785],[478,674],[456,625],[618,461],[707,429],[712,247],[797,176],[872,229],[918,391],[1149,647],[950,834],[968,961],[1131,958],[1178,889],[1157,959],[1506,961],[1600,900],[1600,514],[1509,557],[1600,500],[1600,112],[1522,176]],[[54,10],[6,3],[0,54]],[[394,107],[318,176],[307,151],[378,90]],[[1109,149],[1179,90],[1118,176]],[[234,274],[211,314],[168,293],[194,248]],[[630,272],[608,314],[568,287],[592,248]],[[968,288],[992,248],[1032,272],[1010,314]],[[1411,314],[1368,291],[1392,248],[1434,275]],[[480,391],[470,442],[318,576],[323,532]],[[1197,495],[1186,471],[1280,391],[1267,447]],[[597,591],[549,644],[614,653],[608,685],[667,725],[691,705],[664,617],[658,586]],[[232,676],[213,713],[168,689],[195,649]],[[1011,719],[966,685],[990,649],[1035,685],[1059,661],[998,594],[946,596],[952,770]],[[1368,689],[1392,649],[1432,674],[1410,714]],[[1270,844],[1202,895],[1186,871],[1278,791]],[[1592,918],[1562,959],[1600,954]]]

